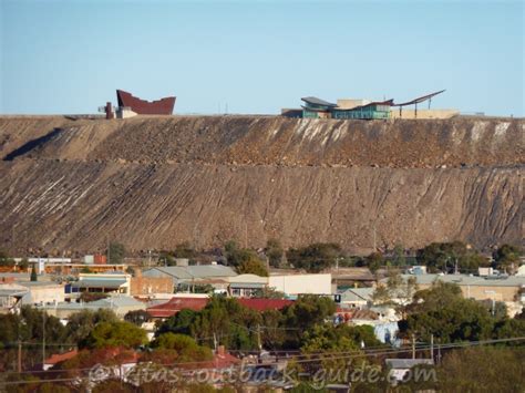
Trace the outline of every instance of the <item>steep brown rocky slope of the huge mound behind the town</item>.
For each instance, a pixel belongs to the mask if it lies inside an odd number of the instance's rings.
[[[0,247],[523,241],[523,120],[0,117]]]

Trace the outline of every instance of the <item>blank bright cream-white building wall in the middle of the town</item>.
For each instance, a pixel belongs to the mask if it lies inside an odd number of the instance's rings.
[[[332,275],[289,275],[268,277],[268,287],[286,294],[330,294]]]

